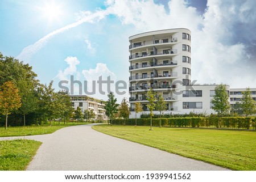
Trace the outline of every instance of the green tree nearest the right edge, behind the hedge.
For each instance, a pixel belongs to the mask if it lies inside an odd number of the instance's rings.
[[[242,109],[243,113],[248,115],[253,115],[256,112],[256,102],[251,98],[251,90],[250,88],[246,88],[246,91],[242,92]]]

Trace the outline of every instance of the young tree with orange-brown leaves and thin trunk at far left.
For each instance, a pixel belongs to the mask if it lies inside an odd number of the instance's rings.
[[[19,90],[13,82],[5,82],[0,87],[0,111],[6,116],[5,129],[7,130],[8,115],[21,106]]]

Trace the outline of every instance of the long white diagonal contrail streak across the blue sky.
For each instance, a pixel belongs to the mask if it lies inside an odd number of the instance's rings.
[[[106,15],[108,15],[108,9],[94,12],[93,14],[90,14],[75,23],[71,23],[65,27],[56,29],[55,31],[48,33],[42,39],[39,39],[38,41],[36,41],[36,43],[34,43],[32,45],[28,45],[26,48],[24,48],[22,50],[22,52],[16,58],[20,61],[28,62],[28,61],[30,61],[32,55],[35,54],[36,52],[38,52],[38,50],[40,50],[41,48],[43,48],[43,46],[47,43],[47,41],[54,35],[64,32],[64,31],[67,31],[70,28],[77,27],[82,23],[91,22],[96,18],[98,18],[98,20],[101,20],[101,19],[105,18]]]

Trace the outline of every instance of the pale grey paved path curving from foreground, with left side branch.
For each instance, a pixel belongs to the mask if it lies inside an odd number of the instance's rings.
[[[138,143],[115,138],[91,128],[71,126],[41,136],[1,139],[42,141],[27,170],[227,170]]]

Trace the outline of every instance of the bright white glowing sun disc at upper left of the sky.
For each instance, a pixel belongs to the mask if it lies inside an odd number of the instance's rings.
[[[46,3],[40,7],[43,17],[47,18],[49,21],[57,20],[63,15],[61,5],[57,5],[55,2]]]

